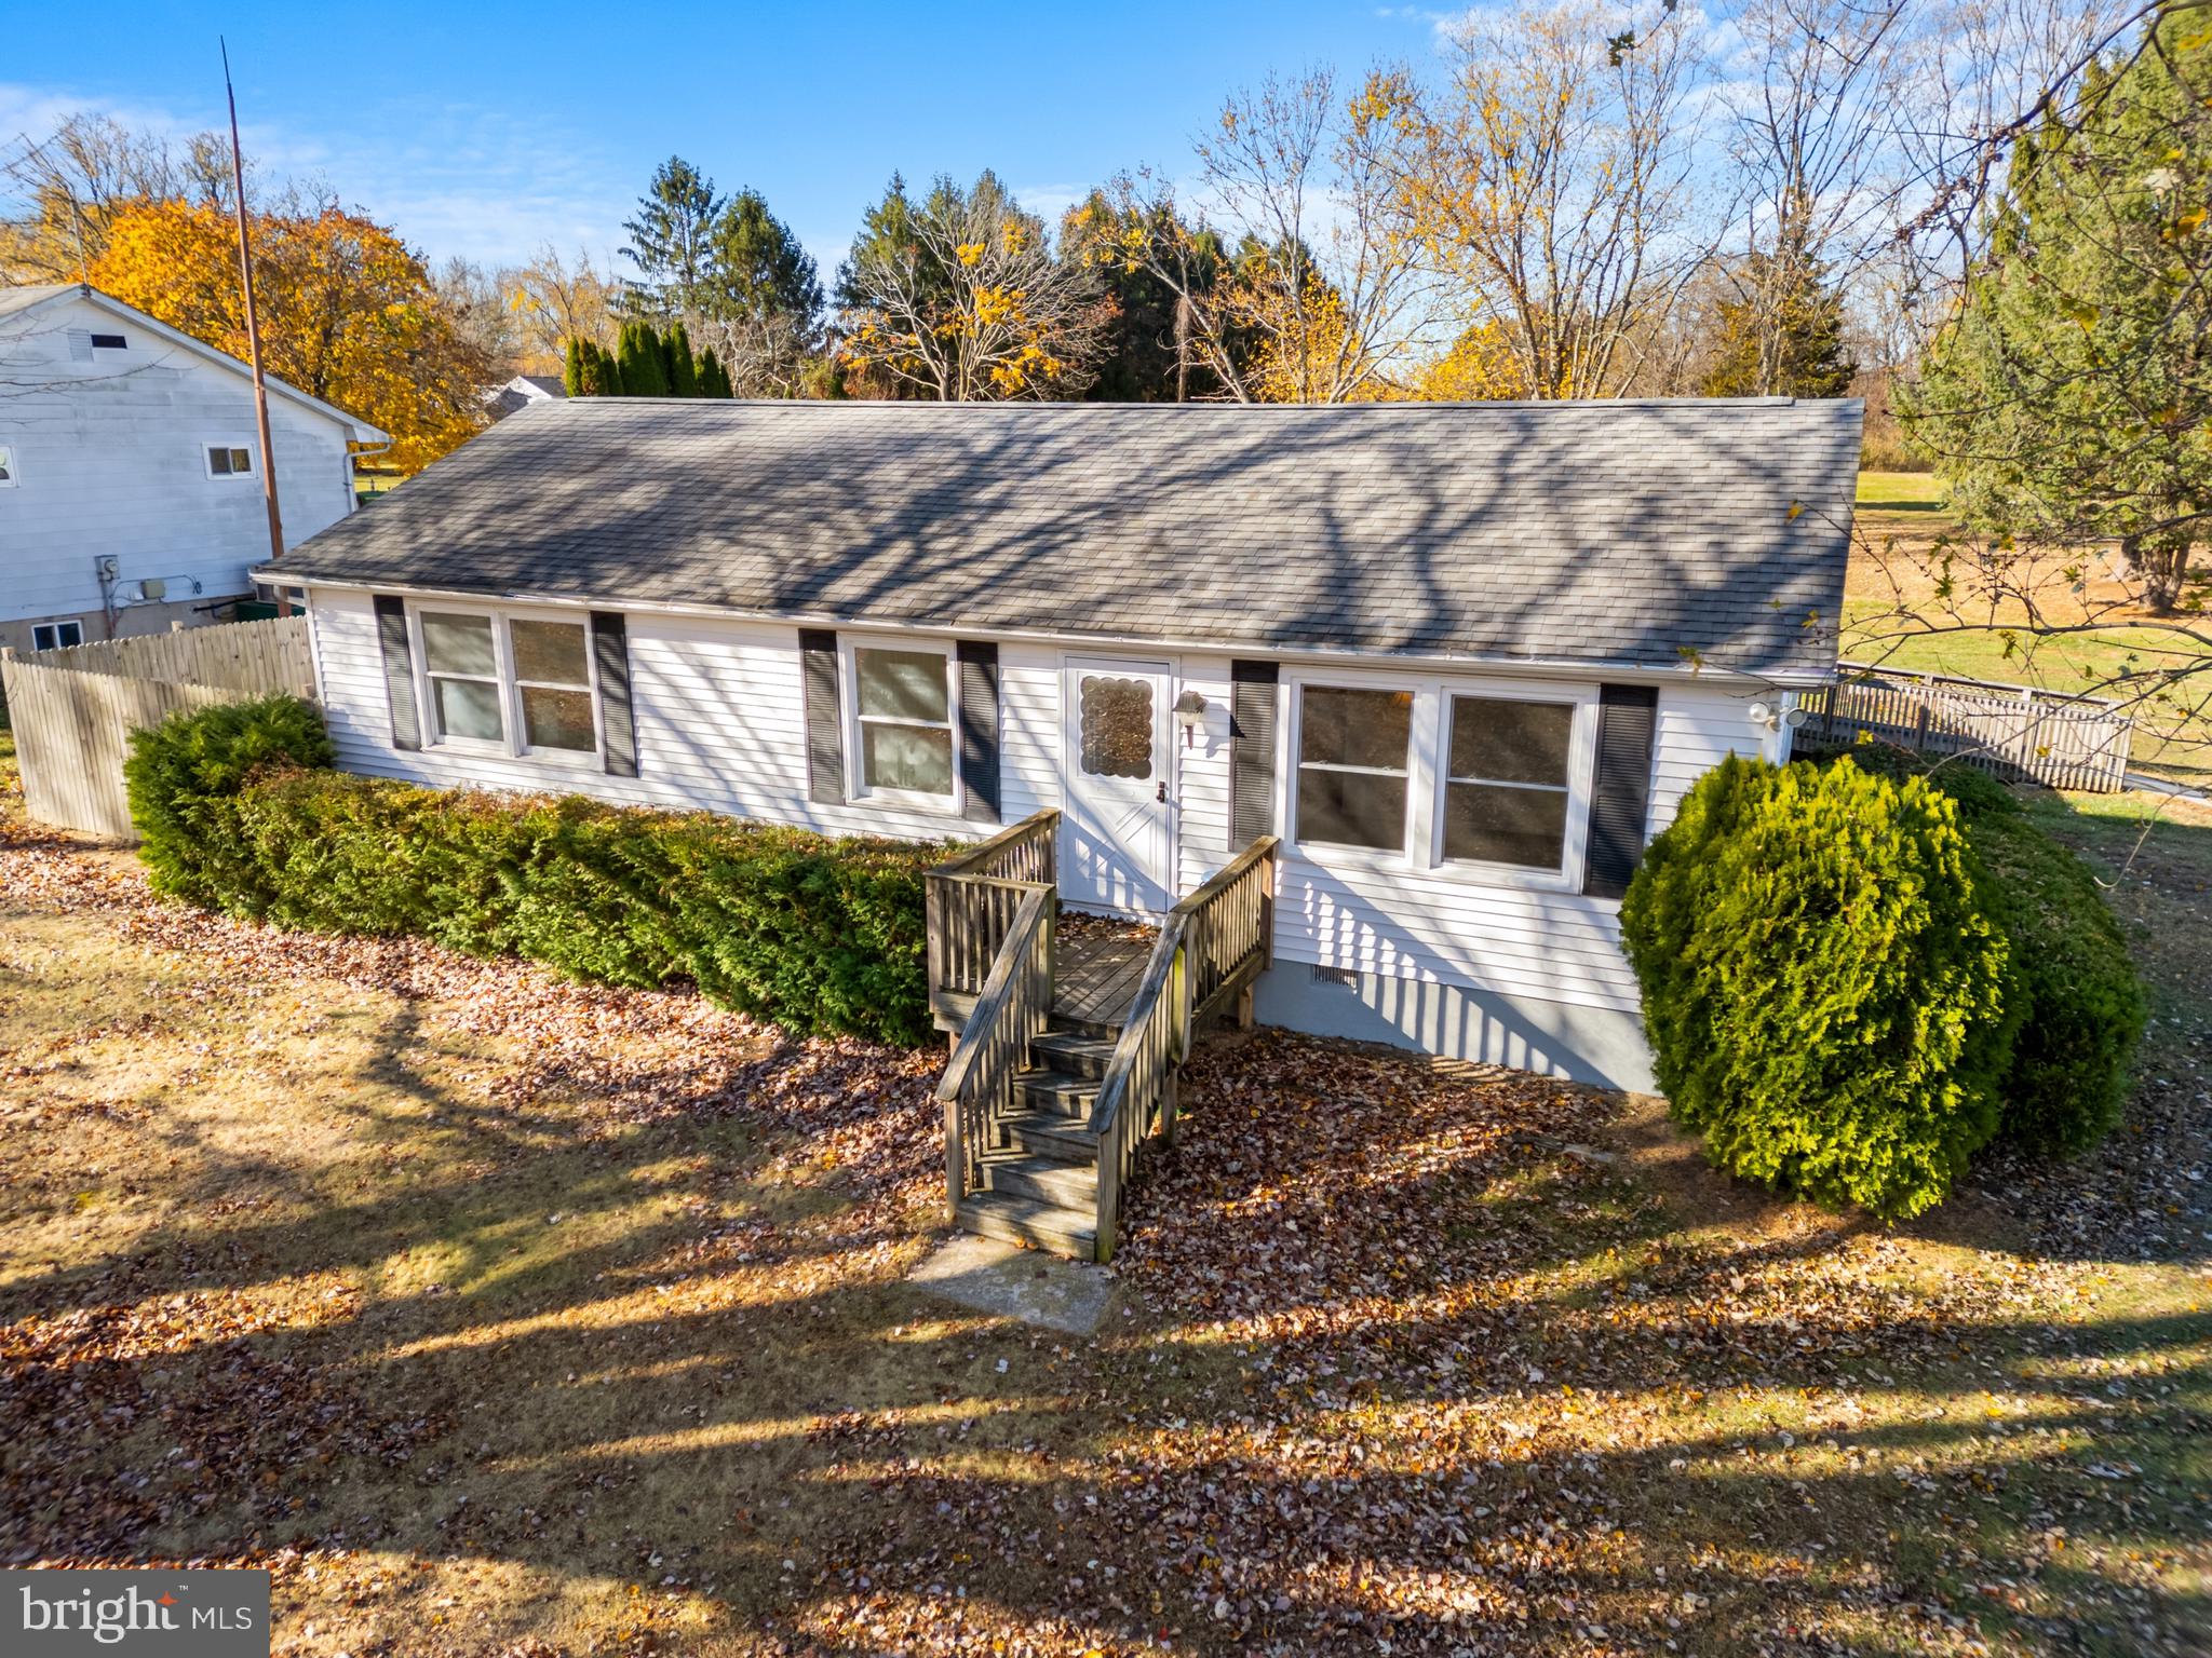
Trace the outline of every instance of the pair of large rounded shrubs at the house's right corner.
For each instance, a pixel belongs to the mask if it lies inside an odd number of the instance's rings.
[[[2088,869],[2000,785],[1730,758],[1621,904],[1659,1085],[1732,1174],[1907,1218],[1995,1138],[2119,1116],[2143,999]]]

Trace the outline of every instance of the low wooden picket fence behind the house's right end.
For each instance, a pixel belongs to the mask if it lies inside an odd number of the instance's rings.
[[[1834,685],[1803,699],[1807,734],[1825,743],[1874,732],[2002,778],[2090,794],[2128,787],[2135,721],[2108,699],[1860,663],[1836,672]]]

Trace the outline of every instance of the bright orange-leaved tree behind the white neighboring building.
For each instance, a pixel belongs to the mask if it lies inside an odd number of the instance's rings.
[[[361,214],[257,212],[261,363],[392,433],[385,464],[414,473],[484,424],[491,365],[445,314],[422,261]],[[93,287],[246,358],[239,232],[228,212],[139,201],[108,225]]]

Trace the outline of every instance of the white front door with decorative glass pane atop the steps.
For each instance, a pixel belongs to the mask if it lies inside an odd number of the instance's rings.
[[[1060,895],[1084,909],[1159,915],[1175,847],[1170,670],[1068,657],[1062,694]]]

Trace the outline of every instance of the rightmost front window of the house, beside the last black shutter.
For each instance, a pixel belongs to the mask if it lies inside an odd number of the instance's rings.
[[[1573,747],[1573,703],[1453,696],[1444,858],[1559,869]]]

